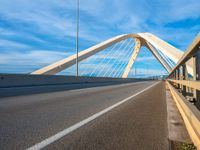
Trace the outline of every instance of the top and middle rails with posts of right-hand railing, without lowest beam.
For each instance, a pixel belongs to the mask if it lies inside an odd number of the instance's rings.
[[[187,71],[187,63],[193,66],[193,74]],[[200,110],[200,33],[189,46],[187,51],[170,72],[167,80],[174,85],[183,96],[192,99]]]

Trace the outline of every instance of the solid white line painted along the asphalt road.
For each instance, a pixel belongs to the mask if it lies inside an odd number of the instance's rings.
[[[69,128],[64,129],[63,131],[58,132],[57,134],[55,134],[55,135],[53,135],[53,136],[51,136],[51,137],[49,137],[49,138],[47,138],[47,139],[45,139],[45,140],[43,140],[43,141],[41,141],[41,142],[39,142],[39,143],[37,143],[37,144],[35,144],[35,145],[33,145],[33,146],[27,148],[27,150],[39,150],[39,149],[42,149],[42,148],[48,146],[49,144],[51,144],[51,143],[53,143],[53,142],[59,140],[60,138],[66,136],[66,135],[69,134],[70,132],[72,132],[72,131],[74,131],[74,130],[80,128],[81,126],[83,126],[83,125],[85,125],[85,124],[91,122],[92,120],[94,120],[94,119],[100,117],[101,115],[103,115],[103,114],[109,112],[109,111],[112,110],[113,108],[115,108],[115,107],[117,107],[117,106],[119,106],[119,105],[121,105],[121,104],[127,102],[128,100],[130,100],[130,99],[132,99],[133,97],[135,97],[135,96],[141,94],[142,92],[144,92],[144,91],[150,89],[151,87],[155,86],[155,85],[158,84],[158,83],[159,83],[159,82],[156,82],[156,83],[154,83],[153,85],[150,85],[150,86],[148,86],[147,88],[143,89],[142,91],[140,91],[140,92],[138,92],[138,93],[136,93],[136,94],[133,94],[133,95],[131,95],[131,96],[129,96],[129,97],[127,97],[127,98],[121,100],[120,102],[118,102],[118,103],[116,103],[116,104],[114,104],[114,105],[112,105],[112,106],[110,106],[110,107],[108,107],[108,108],[106,108],[106,109],[104,109],[104,110],[102,110],[102,111],[100,111],[100,112],[98,112],[98,113],[96,113],[96,114],[94,114],[94,115],[92,115],[92,116],[90,116],[90,117],[88,117],[88,118],[86,118],[86,119],[84,119],[84,120],[82,120],[82,121],[80,121],[80,122],[78,122],[78,123],[72,125],[72,126],[70,126]]]

